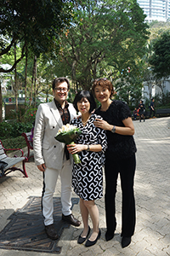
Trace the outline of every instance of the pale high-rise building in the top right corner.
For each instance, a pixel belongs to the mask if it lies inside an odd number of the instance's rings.
[[[167,21],[170,19],[170,0],[137,0],[139,6],[144,9],[146,21]]]

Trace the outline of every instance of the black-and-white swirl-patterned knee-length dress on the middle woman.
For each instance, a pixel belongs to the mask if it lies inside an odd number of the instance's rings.
[[[76,125],[82,131],[77,138],[77,144],[102,146],[101,152],[83,150],[78,153],[81,163],[73,165],[72,187],[83,200],[92,201],[103,196],[103,170],[107,141],[105,131],[94,126],[96,118],[102,119],[95,113],[91,115],[88,124],[83,126],[82,119],[73,119],[71,125]]]

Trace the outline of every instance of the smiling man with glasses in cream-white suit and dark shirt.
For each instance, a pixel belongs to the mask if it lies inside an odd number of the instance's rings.
[[[76,110],[66,101],[70,83],[68,79],[54,79],[54,101],[42,103],[37,109],[34,129],[34,158],[37,168],[43,172],[42,216],[45,231],[51,239],[58,239],[54,230],[53,195],[57,179],[61,179],[62,219],[79,226],[81,223],[71,213],[72,158],[65,144],[55,140],[62,125],[76,117]]]

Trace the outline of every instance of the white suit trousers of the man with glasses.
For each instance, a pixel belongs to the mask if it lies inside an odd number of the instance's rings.
[[[63,166],[61,170],[46,168],[43,172],[43,190],[42,190],[42,216],[44,218],[44,224],[49,225],[54,223],[54,202],[53,195],[55,186],[60,176],[61,180],[61,204],[62,213],[67,216],[71,214],[71,176],[72,166]]]

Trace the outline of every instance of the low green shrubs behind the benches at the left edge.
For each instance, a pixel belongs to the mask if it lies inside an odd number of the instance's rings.
[[[18,137],[22,132],[31,131],[32,124],[29,122],[20,123],[16,121],[0,123],[0,139],[9,137]]]

